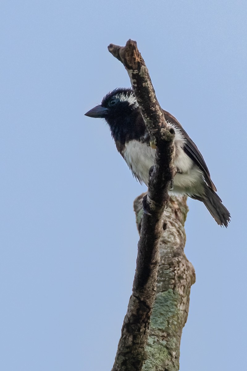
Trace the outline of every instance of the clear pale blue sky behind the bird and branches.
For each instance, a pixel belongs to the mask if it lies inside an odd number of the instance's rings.
[[[1,1],[0,369],[107,371],[131,294],[146,190],[103,120],[131,38],[230,210],[188,200],[196,270],[180,369],[246,370],[246,1]]]

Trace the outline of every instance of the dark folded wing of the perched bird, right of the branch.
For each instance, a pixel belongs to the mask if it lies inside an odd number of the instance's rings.
[[[184,144],[184,152],[188,155],[188,157],[191,158],[191,160],[196,162],[198,167],[203,171],[203,176],[204,176],[204,179],[207,185],[209,185],[209,187],[211,187],[214,191],[217,191],[216,186],[211,181],[210,173],[207,168],[207,165],[201,155],[201,152],[198,150],[196,144],[194,144],[194,142],[190,139],[187,132],[183,129],[181,124],[177,121],[177,119],[173,115],[171,115],[167,111],[164,111],[164,109],[163,109],[163,112],[164,112],[166,121],[171,122],[172,124],[176,125],[183,133],[184,138],[186,139],[186,142]]]

